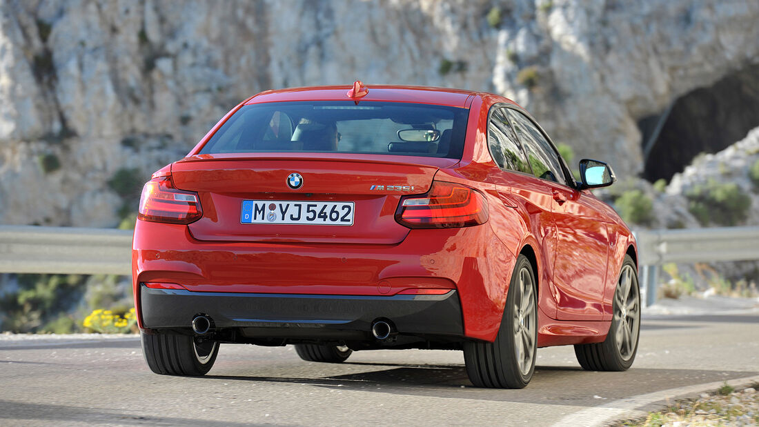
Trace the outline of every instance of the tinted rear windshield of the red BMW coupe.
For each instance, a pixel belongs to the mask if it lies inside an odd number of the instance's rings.
[[[401,102],[244,105],[203,146],[223,152],[349,152],[461,159],[469,110]]]

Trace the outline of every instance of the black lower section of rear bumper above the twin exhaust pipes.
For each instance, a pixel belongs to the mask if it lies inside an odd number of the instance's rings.
[[[143,327],[190,328],[195,316],[216,330],[241,328],[270,338],[371,339],[371,325],[388,320],[398,334],[462,337],[461,304],[444,295],[388,297],[306,294],[241,294],[153,289],[140,286]]]

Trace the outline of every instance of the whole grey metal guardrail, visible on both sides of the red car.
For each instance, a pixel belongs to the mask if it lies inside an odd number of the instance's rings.
[[[656,302],[667,262],[759,259],[759,227],[637,231],[641,291]],[[0,273],[131,274],[132,232],[0,225]]]

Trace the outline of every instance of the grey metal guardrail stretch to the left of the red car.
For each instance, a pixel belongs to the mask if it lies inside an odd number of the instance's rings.
[[[0,273],[130,275],[132,231],[0,225]]]

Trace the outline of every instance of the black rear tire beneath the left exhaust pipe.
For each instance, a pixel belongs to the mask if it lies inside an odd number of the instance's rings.
[[[190,335],[145,334],[143,355],[150,370],[161,375],[206,375],[219,355],[216,341],[196,341]]]

